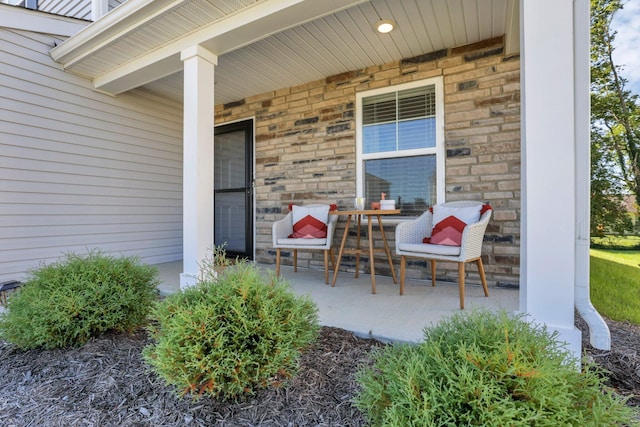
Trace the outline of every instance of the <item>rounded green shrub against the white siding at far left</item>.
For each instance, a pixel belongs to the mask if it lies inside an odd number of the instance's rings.
[[[146,322],[157,271],[136,258],[67,254],[31,271],[0,317],[0,337],[22,349],[79,345]]]

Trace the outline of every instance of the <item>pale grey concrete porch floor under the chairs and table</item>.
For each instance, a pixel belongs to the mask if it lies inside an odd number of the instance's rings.
[[[258,264],[261,269],[274,270],[275,265]],[[161,294],[167,295],[179,289],[182,261],[158,264]],[[320,324],[346,329],[358,336],[382,341],[422,340],[422,329],[434,322],[460,312],[458,284],[407,280],[404,295],[399,295],[398,285],[391,277],[376,275],[376,291],[371,293],[371,277],[352,272],[339,272],[335,287],[325,285],[324,272],[320,270],[282,266],[281,274],[298,295],[309,295],[319,310]],[[468,284],[465,292],[465,310],[484,307],[518,310],[518,290],[489,286],[486,298],[480,285]]]

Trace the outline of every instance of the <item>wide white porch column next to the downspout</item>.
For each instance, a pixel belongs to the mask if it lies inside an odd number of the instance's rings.
[[[587,0],[577,0],[587,1]],[[520,0],[522,241],[520,311],[577,357],[574,0]],[[588,118],[587,118],[588,119]]]

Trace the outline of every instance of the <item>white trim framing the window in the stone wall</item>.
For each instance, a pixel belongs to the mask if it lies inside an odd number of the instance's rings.
[[[364,161],[370,158],[380,158],[380,153],[362,153],[362,98],[380,95],[389,92],[398,92],[421,86],[433,85],[436,95],[436,146],[419,150],[403,150],[391,152],[386,157],[406,157],[411,155],[434,154],[436,155],[436,203],[445,201],[445,150],[444,150],[444,92],[442,77],[433,77],[425,80],[386,86],[379,89],[356,93],[356,197],[363,197],[364,189]],[[367,201],[370,202],[370,201]]]

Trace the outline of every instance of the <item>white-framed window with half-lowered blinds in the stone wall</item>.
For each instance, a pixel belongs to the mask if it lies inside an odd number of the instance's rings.
[[[367,203],[384,192],[403,214],[419,215],[438,202],[442,100],[433,80],[358,95],[358,194]]]

